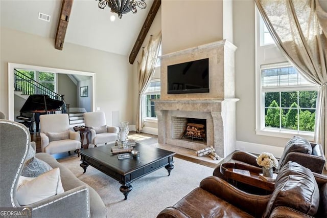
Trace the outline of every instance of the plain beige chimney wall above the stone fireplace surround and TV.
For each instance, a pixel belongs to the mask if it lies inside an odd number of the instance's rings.
[[[223,1],[161,1],[162,54],[223,39]]]

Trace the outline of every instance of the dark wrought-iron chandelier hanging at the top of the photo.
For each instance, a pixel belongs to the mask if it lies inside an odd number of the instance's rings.
[[[134,14],[137,12],[136,6],[145,9],[147,4],[145,0],[96,0],[99,1],[99,8],[104,9],[106,6],[111,8],[111,12],[118,14],[122,18],[123,14],[132,11]]]

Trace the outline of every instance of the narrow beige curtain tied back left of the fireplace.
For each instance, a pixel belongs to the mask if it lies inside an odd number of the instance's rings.
[[[155,69],[159,48],[161,44],[161,32],[157,37],[151,35],[149,45],[143,48],[141,61],[137,63],[138,73],[138,101],[136,115],[136,132],[139,133],[143,129],[142,114],[142,95],[147,90],[152,74]]]

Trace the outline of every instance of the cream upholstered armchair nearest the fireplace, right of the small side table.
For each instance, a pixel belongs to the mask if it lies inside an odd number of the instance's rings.
[[[113,143],[118,138],[119,128],[107,126],[103,112],[84,113],[85,126],[91,127],[91,143],[95,147],[99,144]]]

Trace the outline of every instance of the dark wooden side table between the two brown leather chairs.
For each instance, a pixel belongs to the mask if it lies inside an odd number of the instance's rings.
[[[233,172],[233,169],[248,170],[250,172],[250,175],[248,176],[243,175],[241,173]],[[259,173],[262,173],[262,171],[258,170],[255,167],[250,167],[239,163],[227,162],[220,165],[220,172],[226,178],[232,179],[234,181],[239,181],[267,191],[273,191],[275,189],[275,183],[261,179]]]

